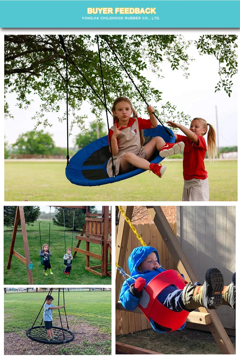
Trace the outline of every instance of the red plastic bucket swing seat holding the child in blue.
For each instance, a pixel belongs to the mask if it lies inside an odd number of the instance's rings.
[[[164,307],[157,299],[157,296],[169,285],[176,285],[178,289],[183,289],[187,283],[188,282],[184,280],[181,274],[176,270],[170,269],[158,274],[150,280],[145,291],[143,291],[143,296],[139,301],[139,308],[148,320],[151,318],[160,326],[171,328],[169,331],[178,330],[186,322],[189,312],[184,310],[181,312],[174,312],[171,309]]]

